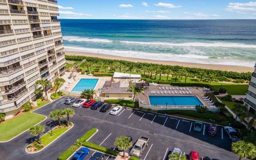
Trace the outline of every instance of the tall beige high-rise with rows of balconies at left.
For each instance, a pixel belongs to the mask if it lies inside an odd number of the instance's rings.
[[[58,15],[54,0],[0,0],[0,113],[6,118],[37,98],[38,79],[53,83],[65,73]]]

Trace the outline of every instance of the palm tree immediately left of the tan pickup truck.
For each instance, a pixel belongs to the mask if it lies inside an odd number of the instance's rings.
[[[125,137],[125,136],[120,136],[117,137],[115,140],[115,146],[119,149],[123,151],[123,156],[125,157],[125,150],[129,149],[130,147],[132,147],[132,142],[130,142],[131,139],[130,137]]]

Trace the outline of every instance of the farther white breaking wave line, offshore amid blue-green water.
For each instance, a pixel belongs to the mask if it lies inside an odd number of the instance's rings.
[[[202,46],[202,47],[236,47],[236,48],[250,48],[256,49],[256,45],[242,44],[242,43],[228,43],[228,42],[188,42],[188,43],[169,43],[169,42],[133,42],[133,41],[111,41],[109,39],[99,38],[84,38],[77,36],[63,36],[65,41],[70,42],[95,42],[95,43],[126,43],[134,45],[158,45],[158,46]]]

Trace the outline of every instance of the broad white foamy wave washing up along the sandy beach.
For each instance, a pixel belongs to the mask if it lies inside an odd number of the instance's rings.
[[[193,62],[202,64],[215,64],[215,65],[233,65],[233,66],[254,66],[253,61],[246,61],[241,59],[232,59],[232,57],[209,57],[206,55],[199,55],[195,53],[189,54],[171,54],[171,53],[147,53],[139,51],[121,51],[121,50],[102,50],[90,49],[86,47],[65,46],[67,51],[78,51],[87,53],[101,53],[107,55],[116,55],[121,57],[140,58],[149,60],[162,60],[162,61],[178,61],[178,62]]]

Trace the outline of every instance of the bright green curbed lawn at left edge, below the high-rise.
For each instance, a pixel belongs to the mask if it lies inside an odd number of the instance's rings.
[[[24,113],[0,124],[0,141],[7,141],[43,121],[45,116]]]

